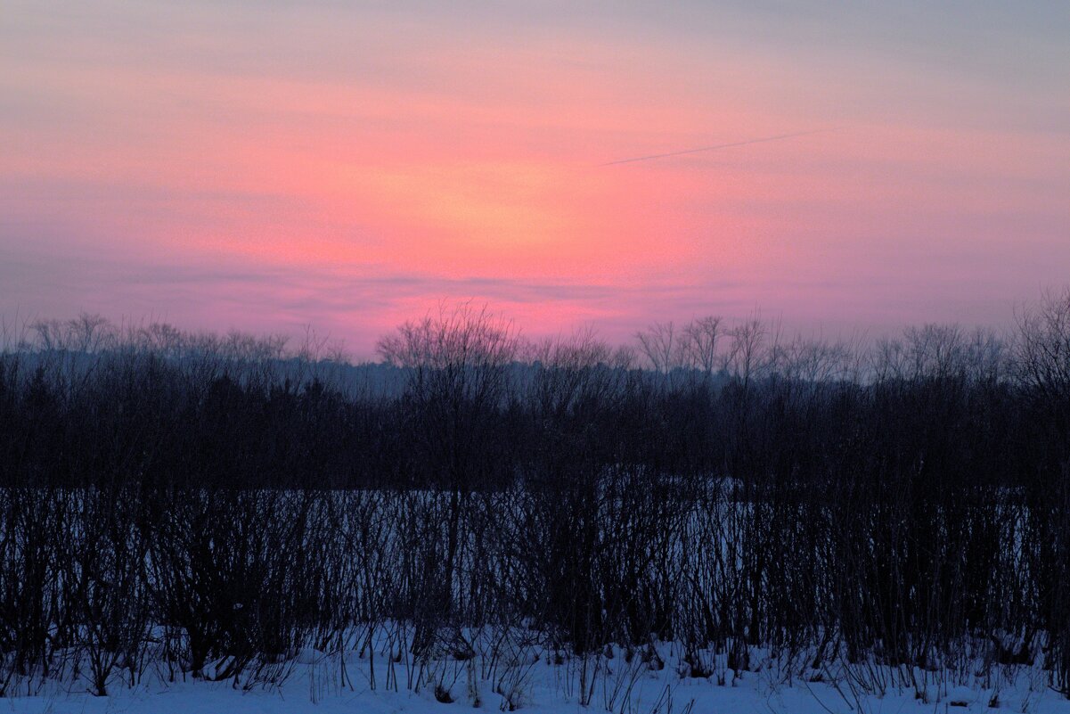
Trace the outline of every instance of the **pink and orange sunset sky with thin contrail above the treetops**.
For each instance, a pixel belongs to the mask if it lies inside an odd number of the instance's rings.
[[[1070,283],[1068,36],[1061,0],[4,0],[0,314],[999,328]]]

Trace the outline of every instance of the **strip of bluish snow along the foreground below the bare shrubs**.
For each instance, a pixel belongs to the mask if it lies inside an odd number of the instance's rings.
[[[518,677],[505,678],[518,683],[513,701],[516,711],[532,714],[602,713],[611,714],[718,714],[721,712],[761,712],[763,714],[910,714],[917,712],[1024,712],[1045,714],[1070,713],[1070,700],[1046,686],[1044,673],[1030,668],[991,673],[987,681],[974,680],[961,684],[961,675],[928,673],[920,675],[927,684],[904,686],[901,677],[885,672],[885,692],[863,692],[850,672],[840,672],[836,684],[807,682],[792,678],[784,681],[782,672],[743,672],[734,678],[727,672],[724,685],[719,674],[709,679],[683,677],[687,671],[673,654],[671,645],[661,650],[664,667],[653,669],[640,658],[626,660],[620,653],[612,658],[588,658],[584,671],[580,660],[549,664],[538,659],[516,671]],[[369,714],[449,714],[461,711],[509,711],[509,702],[495,688],[494,680],[484,679],[475,660],[443,662],[441,669],[427,681],[448,682],[448,693],[439,701],[433,686],[409,688],[408,682],[419,679],[397,665],[388,677],[382,658],[374,663],[355,654],[347,657],[349,684],[342,685],[340,662],[326,656],[302,656],[281,686],[248,690],[233,683],[179,681],[164,684],[156,677],[147,677],[141,684],[128,688],[117,683],[108,697],[93,697],[74,689],[41,687],[34,696],[10,696],[0,699],[0,712],[18,714],[92,714],[149,712],[152,714],[286,714],[291,712],[332,714],[334,712],[367,712]],[[425,672],[426,673],[426,672]],[[410,678],[410,674],[413,678]],[[371,682],[377,686],[372,688]],[[389,679],[392,684],[386,685]],[[960,684],[956,684],[956,680]],[[973,678],[972,678],[973,679]],[[148,683],[152,680],[152,683]],[[998,683],[996,683],[998,681]],[[586,682],[582,689],[582,683]],[[854,682],[854,683],[853,683]],[[585,697],[584,693],[585,692]],[[10,693],[11,694],[11,693]],[[25,692],[22,693],[25,694]],[[519,695],[519,696],[516,696]],[[919,696],[920,695],[920,696]],[[586,698],[583,705],[581,699]]]

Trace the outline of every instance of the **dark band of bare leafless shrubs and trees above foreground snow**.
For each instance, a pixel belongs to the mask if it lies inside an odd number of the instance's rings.
[[[277,338],[17,337],[0,694],[277,682],[312,647],[385,652],[386,686],[414,663],[443,700],[431,663],[490,648],[504,696],[505,649],[654,667],[656,640],[722,683],[762,657],[867,686],[1040,666],[1070,692],[1070,291],[1005,338],[865,349],[715,318],[531,344],[462,306],[363,381]]]

